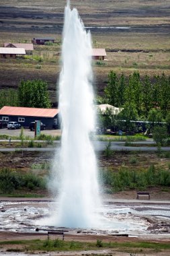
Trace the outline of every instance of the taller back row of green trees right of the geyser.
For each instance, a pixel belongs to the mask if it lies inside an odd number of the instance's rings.
[[[132,106],[140,119],[146,119],[149,111],[157,108],[165,118],[170,110],[170,77],[163,73],[141,78],[138,72],[118,77],[110,71],[102,101],[117,107]]]

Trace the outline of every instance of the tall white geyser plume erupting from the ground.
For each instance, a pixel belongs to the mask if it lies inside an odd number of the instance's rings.
[[[97,164],[89,133],[95,126],[91,35],[77,9],[65,7],[59,108],[62,119],[57,226],[97,226]]]

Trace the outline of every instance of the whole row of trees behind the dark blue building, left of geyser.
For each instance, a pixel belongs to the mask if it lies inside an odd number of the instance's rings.
[[[0,108],[3,106],[50,108],[48,85],[41,79],[35,79],[22,81],[17,90],[1,90]]]

